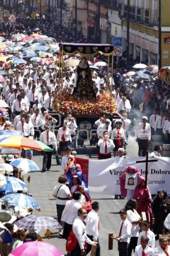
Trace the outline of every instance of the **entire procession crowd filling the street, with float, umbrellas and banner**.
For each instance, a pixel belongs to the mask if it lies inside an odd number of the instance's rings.
[[[168,67],[41,18],[0,23],[0,255],[170,256]],[[57,28],[57,29],[56,29]]]

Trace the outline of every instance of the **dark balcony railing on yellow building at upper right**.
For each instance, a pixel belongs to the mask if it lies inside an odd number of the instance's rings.
[[[124,5],[122,11],[122,18],[127,18],[128,6]],[[129,7],[129,18],[131,21],[145,24],[146,26],[158,26],[157,11],[144,9],[136,6]]]

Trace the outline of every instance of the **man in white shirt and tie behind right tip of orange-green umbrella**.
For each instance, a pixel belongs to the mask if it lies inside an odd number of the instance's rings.
[[[57,141],[56,141],[56,135],[50,131],[50,127],[48,125],[45,125],[45,131],[41,133],[40,135],[40,141],[45,143],[50,148],[55,148],[57,151]],[[50,171],[50,167],[52,164],[52,153],[53,151],[44,151],[44,158],[42,162],[42,172]]]

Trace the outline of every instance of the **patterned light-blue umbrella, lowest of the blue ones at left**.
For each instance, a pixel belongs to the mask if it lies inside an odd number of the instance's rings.
[[[39,204],[33,199],[32,196],[24,195],[23,193],[9,194],[2,197],[2,200],[8,201],[8,204],[13,207],[40,209]]]

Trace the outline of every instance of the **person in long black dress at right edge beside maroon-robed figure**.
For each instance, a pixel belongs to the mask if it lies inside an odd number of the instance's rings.
[[[162,189],[158,191],[155,199],[152,202],[152,210],[154,213],[154,233],[159,238],[159,234],[165,234],[164,220],[170,213],[170,199],[167,193]]]

